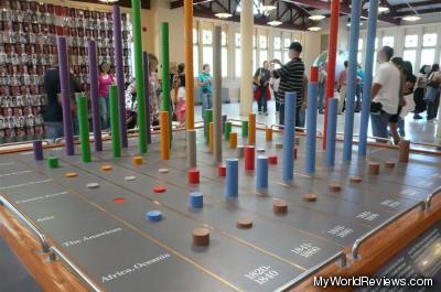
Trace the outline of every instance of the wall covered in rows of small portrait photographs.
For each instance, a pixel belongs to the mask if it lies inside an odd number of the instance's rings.
[[[125,78],[129,83],[129,14],[121,14],[121,22]],[[87,41],[96,41],[98,63],[114,64],[111,12],[0,0],[0,143],[44,139],[43,76],[56,61],[57,35],[67,37],[71,72],[87,94]]]

